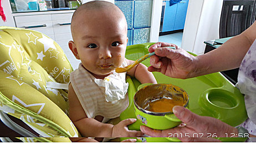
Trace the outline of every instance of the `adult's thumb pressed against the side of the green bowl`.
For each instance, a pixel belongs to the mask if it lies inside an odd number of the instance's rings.
[[[201,124],[201,116],[194,114],[183,106],[174,106],[172,108],[173,114],[183,123],[190,126],[198,126]]]

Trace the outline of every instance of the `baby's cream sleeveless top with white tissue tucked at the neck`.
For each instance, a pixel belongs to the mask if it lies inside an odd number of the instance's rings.
[[[127,64],[124,63],[122,66]],[[126,73],[113,74],[107,76],[105,80],[98,80],[81,64],[78,69],[70,73],[71,84],[87,117],[94,118],[100,115],[113,119],[120,116],[129,105],[125,76]]]

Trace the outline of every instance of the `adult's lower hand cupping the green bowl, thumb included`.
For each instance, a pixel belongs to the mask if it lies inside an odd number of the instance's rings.
[[[227,137],[226,133],[238,133],[237,128],[232,127],[221,120],[213,117],[196,115],[183,106],[174,106],[172,110],[177,118],[185,124],[167,130],[152,130],[149,127],[141,126],[141,132],[151,137],[177,137],[178,135],[178,138],[182,142],[216,142],[219,140],[207,137]],[[174,133],[176,134],[173,135]],[[230,137],[230,135],[228,135],[228,137]]]

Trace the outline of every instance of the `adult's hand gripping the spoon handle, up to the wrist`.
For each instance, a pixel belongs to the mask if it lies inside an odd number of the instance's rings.
[[[175,47],[176,49],[165,48]],[[196,56],[193,56],[178,48],[175,44],[158,42],[149,48],[149,52],[155,52],[150,58],[149,71],[158,71],[172,78],[192,78],[196,65]]]

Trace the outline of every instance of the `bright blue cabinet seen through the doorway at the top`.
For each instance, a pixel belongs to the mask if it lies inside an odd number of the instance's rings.
[[[187,7],[188,0],[182,0],[172,6],[170,6],[170,1],[166,1],[162,32],[184,29]]]

